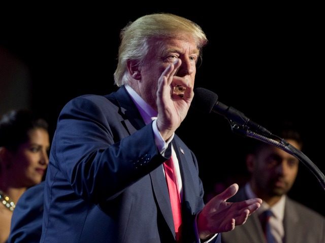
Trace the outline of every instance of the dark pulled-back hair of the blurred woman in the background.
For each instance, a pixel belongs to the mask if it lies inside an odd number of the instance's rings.
[[[47,122],[29,110],[12,110],[0,120],[0,147],[16,151],[20,144],[27,142],[32,129],[48,130]]]

